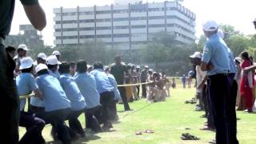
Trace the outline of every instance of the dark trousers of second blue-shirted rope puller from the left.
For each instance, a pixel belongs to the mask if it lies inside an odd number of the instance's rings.
[[[70,115],[70,108],[62,110],[54,110],[39,114],[38,117],[42,118],[46,124],[50,123],[53,127],[54,133],[58,134],[58,139],[63,144],[71,143],[70,128],[64,122]]]

